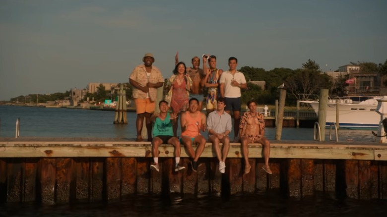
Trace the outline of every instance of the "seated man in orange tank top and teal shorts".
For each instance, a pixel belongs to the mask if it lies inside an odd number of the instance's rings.
[[[192,170],[197,170],[197,160],[204,151],[206,140],[200,134],[206,130],[205,114],[198,110],[199,102],[196,98],[192,98],[189,102],[188,110],[182,113],[181,126],[182,137],[180,142],[186,146],[188,155],[193,159],[191,162]],[[197,144],[196,151],[192,144]]]

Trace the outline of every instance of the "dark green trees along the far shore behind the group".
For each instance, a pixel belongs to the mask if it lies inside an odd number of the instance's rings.
[[[362,73],[381,73],[381,75],[387,75],[387,60],[382,64],[376,64],[373,62],[351,62],[353,65],[360,66]],[[272,105],[275,100],[279,98],[279,89],[277,88],[281,84],[284,84],[284,89],[287,91],[286,103],[287,106],[296,105],[297,100],[302,100],[302,94],[319,95],[320,89],[328,89],[329,94],[342,96],[344,94],[345,80],[348,79],[348,75],[339,77],[333,80],[330,76],[322,73],[322,70],[314,60],[308,59],[303,63],[300,68],[274,68],[266,71],[263,68],[256,68],[251,66],[243,66],[239,69],[247,81],[265,81],[265,88],[261,89],[259,86],[248,83],[248,89],[242,91],[242,103],[246,103],[249,100],[256,100],[258,104]],[[387,80],[382,81],[387,86]],[[120,87],[121,84],[118,85]],[[127,99],[131,99],[132,87],[127,83],[122,83],[126,90]],[[51,95],[39,95],[38,103],[45,103],[47,101],[65,100],[70,97],[69,91],[65,93],[55,93]],[[104,101],[106,99],[115,100],[117,97],[117,90],[106,90],[101,84],[97,88],[95,93],[87,93],[83,100],[94,99],[94,101]],[[11,102],[32,102],[36,103],[36,94],[30,94],[27,96],[19,96],[12,98]]]

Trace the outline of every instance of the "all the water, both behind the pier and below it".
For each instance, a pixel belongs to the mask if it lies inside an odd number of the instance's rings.
[[[20,117],[20,136],[38,137],[119,137],[135,138],[135,113],[128,113],[128,125],[113,124],[114,112],[85,109],[50,109],[0,106],[0,136],[14,137],[16,119]],[[273,140],[275,128],[266,128]],[[326,130],[328,133],[329,130]],[[179,132],[178,132],[179,134]],[[376,141],[371,131],[340,130],[339,140]],[[328,137],[326,137],[328,139]],[[326,139],[326,140],[327,140]],[[283,128],[282,140],[313,140],[312,128]],[[279,192],[231,196],[146,195],[129,196],[109,203],[0,205],[0,216],[385,216],[387,200],[337,200],[318,193],[303,199],[284,198]]]

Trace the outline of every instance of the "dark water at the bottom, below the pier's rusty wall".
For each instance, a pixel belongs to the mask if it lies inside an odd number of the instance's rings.
[[[129,196],[110,203],[74,203],[55,205],[5,204],[0,205],[0,216],[384,216],[387,212],[386,200],[335,200],[322,193],[302,199],[284,198],[270,192],[261,195],[243,195],[221,198],[193,195],[170,195],[162,197]]]

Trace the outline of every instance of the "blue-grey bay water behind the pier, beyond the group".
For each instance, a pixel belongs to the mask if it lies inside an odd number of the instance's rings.
[[[31,137],[118,137],[136,136],[134,112],[128,112],[128,124],[113,124],[113,111],[87,109],[57,109],[0,106],[0,136],[14,137],[16,119],[20,118],[20,136]],[[180,134],[180,127],[178,128]],[[206,135],[206,133],[203,133]],[[325,130],[329,140],[329,129]],[[273,140],[275,128],[265,129],[267,138]],[[233,137],[233,132],[231,133]],[[334,134],[332,134],[334,138]],[[282,140],[313,140],[313,128],[282,128]],[[339,141],[377,141],[369,130],[339,131]]]

